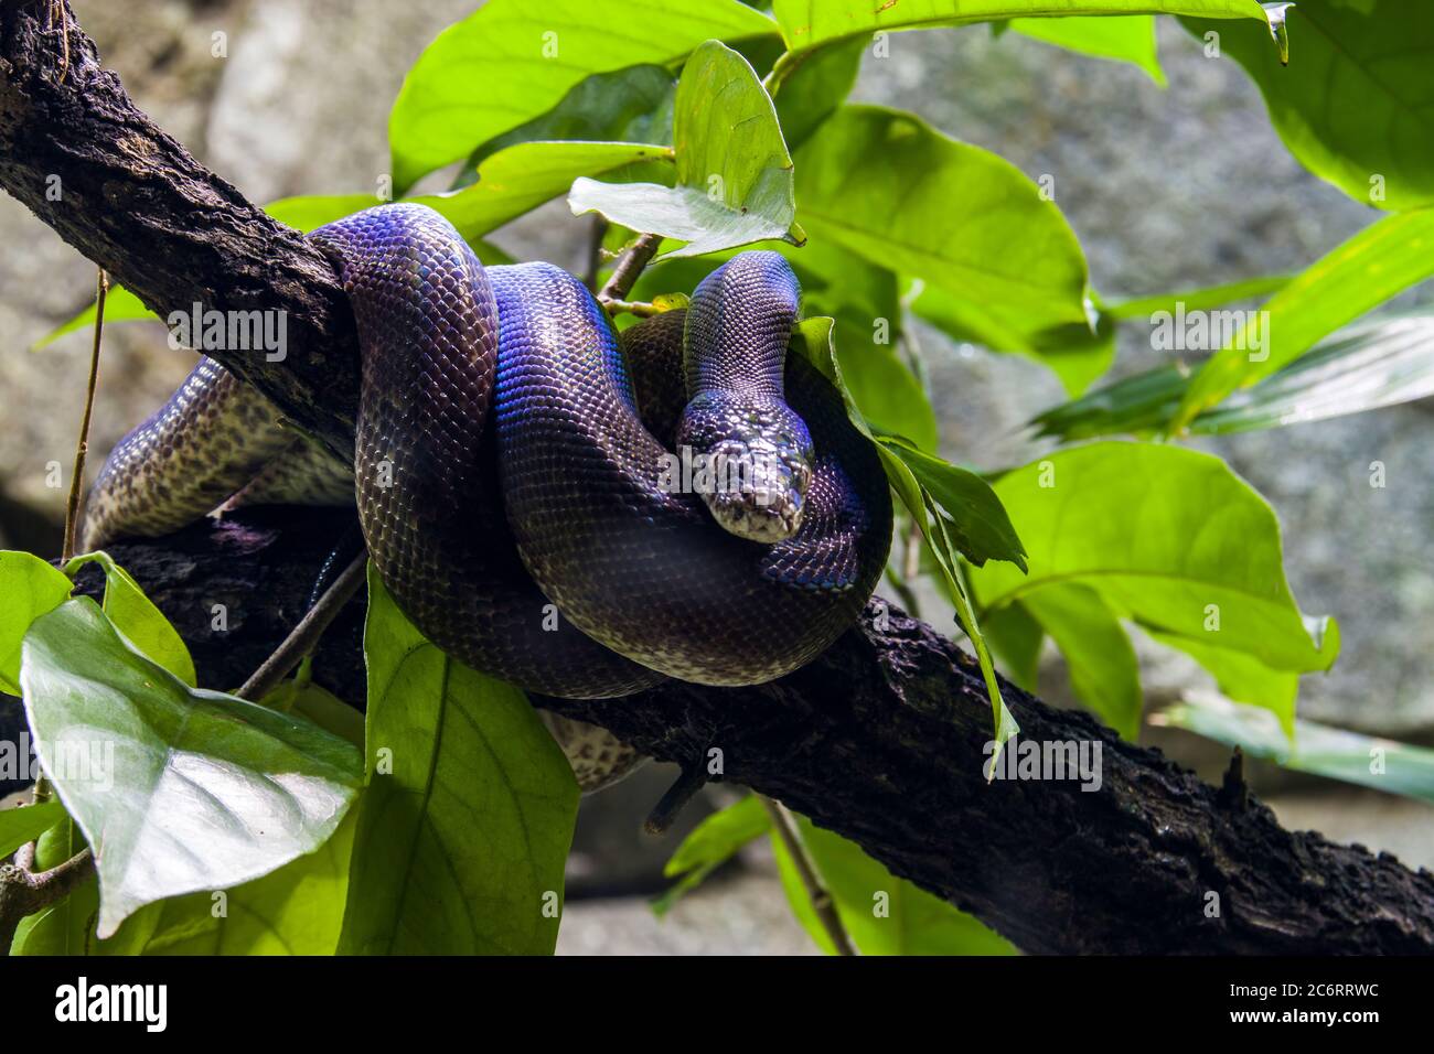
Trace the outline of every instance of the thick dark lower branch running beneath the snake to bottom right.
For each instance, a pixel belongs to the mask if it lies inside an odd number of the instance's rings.
[[[232,687],[281,641],[346,528],[341,512],[255,509],[110,546]],[[95,588],[99,588],[95,575]],[[229,604],[229,628],[211,605]],[[361,599],[323,638],[314,680],[364,695]],[[751,787],[860,843],[1032,952],[1431,952],[1434,876],[1283,830],[1083,713],[1004,684],[1025,741],[1100,744],[1100,789],[982,774],[991,707],[975,660],[873,602],[806,668],[756,688],[668,683],[622,700],[539,706]],[[1219,915],[1207,909],[1217,895]]]

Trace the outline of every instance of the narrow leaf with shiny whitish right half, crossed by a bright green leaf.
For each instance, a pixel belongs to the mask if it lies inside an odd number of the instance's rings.
[[[1189,373],[1164,366],[1035,417],[1038,435],[1088,439],[1169,427]],[[1341,330],[1255,387],[1190,422],[1197,436],[1253,432],[1375,410],[1434,396],[1434,313],[1385,315]]]

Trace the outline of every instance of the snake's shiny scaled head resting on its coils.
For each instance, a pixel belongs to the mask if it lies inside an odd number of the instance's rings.
[[[812,482],[812,436],[779,399],[704,393],[678,426],[685,489],[726,531],[774,543],[802,526]]]

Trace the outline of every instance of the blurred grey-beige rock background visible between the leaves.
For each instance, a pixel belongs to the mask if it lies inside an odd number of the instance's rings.
[[[387,112],[404,70],[473,6],[75,0],[106,65],[139,105],[258,202],[373,191],[387,171]],[[994,39],[979,26],[905,33],[891,39],[889,57],[868,56],[855,98],[913,109],[1031,178],[1053,175],[1057,204],[1107,298],[1298,271],[1375,218],[1289,156],[1233,60],[1206,59],[1169,20],[1160,43],[1164,90],[1133,66],[1014,33]],[[496,241],[519,255],[576,267],[582,229],[558,202]],[[7,247],[0,252],[0,393],[7,410],[0,546],[52,552],[67,480],[53,486],[49,463],[69,472],[89,348],[85,336],[39,353],[29,346],[92,298],[95,271],[9,198],[0,198],[0,245]],[[922,347],[946,456],[998,467],[1041,452],[1022,424],[1063,400],[1053,376],[1024,360],[954,347],[931,331],[922,333]],[[1157,363],[1146,334],[1129,327],[1116,376]],[[158,326],[106,331],[90,472],[191,364],[185,353],[165,347]],[[1428,406],[1414,404],[1203,443],[1275,505],[1301,605],[1342,624],[1339,663],[1332,674],[1305,680],[1301,713],[1424,743],[1434,739],[1430,423]],[[1384,490],[1368,486],[1372,460],[1387,466]],[[1199,680],[1183,660],[1146,651],[1153,703]],[[1055,660],[1043,688],[1058,698],[1063,681]],[[1223,751],[1210,744],[1152,731],[1153,741],[1207,776],[1223,764]],[[654,869],[678,833],[654,842],[635,832],[664,779],[650,769],[622,793],[585,804],[561,951],[810,951],[761,850],[665,921],[651,916],[642,895],[658,888]],[[1423,806],[1268,769],[1256,779],[1288,823],[1434,865]],[[582,891],[625,896],[579,901]]]

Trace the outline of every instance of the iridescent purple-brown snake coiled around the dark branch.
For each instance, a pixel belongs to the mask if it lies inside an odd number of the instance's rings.
[[[353,463],[201,357],[110,452],[82,543],[245,505],[356,503],[394,602],[452,658],[519,688],[614,700],[667,678],[764,684],[872,595],[892,532],[872,442],[789,354],[800,285],[731,255],[685,307],[622,330],[546,262],[485,267],[419,204],[310,234],[353,310]],[[579,786],[641,756],[542,711]]]

